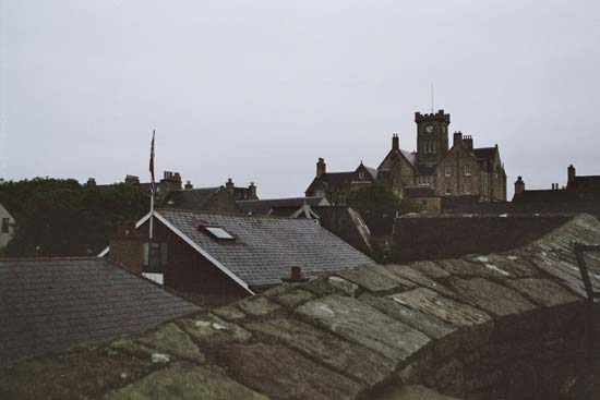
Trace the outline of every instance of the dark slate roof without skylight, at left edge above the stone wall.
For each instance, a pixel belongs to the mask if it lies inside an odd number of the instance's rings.
[[[0,365],[197,310],[105,258],[0,259]]]

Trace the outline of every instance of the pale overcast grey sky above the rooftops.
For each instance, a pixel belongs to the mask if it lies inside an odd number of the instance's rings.
[[[255,181],[377,167],[415,111],[499,144],[509,187],[600,174],[600,1],[0,0],[0,177]]]

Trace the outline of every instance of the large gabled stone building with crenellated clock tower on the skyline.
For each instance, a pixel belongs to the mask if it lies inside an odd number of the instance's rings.
[[[380,181],[399,195],[410,196],[417,192],[420,193],[417,197],[506,201],[506,173],[497,145],[476,148],[472,137],[460,132],[454,133],[451,144],[451,118],[444,110],[428,114],[416,112],[415,122],[417,151],[403,150],[398,135],[394,134],[392,149],[376,169],[361,162],[355,171],[327,172],[325,160],[320,158],[316,177],[305,195],[326,196],[333,204],[345,204],[352,189]]]

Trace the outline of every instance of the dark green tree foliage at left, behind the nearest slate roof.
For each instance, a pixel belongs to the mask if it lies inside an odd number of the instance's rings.
[[[149,209],[148,195],[135,186],[98,187],[72,179],[0,182],[0,203],[16,220],[5,256],[97,254],[119,223]]]

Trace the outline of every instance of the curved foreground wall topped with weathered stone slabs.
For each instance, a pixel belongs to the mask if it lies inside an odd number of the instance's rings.
[[[504,253],[280,286],[0,369],[0,398],[447,399],[423,386],[463,399],[581,398],[572,242],[600,243],[598,220]]]

